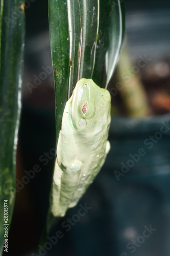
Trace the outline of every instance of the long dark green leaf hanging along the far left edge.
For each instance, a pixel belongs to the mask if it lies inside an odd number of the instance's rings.
[[[23,50],[25,38],[24,1],[1,0],[0,70],[0,252],[4,242],[4,200],[8,200],[8,232],[15,199],[15,157],[21,109]]]

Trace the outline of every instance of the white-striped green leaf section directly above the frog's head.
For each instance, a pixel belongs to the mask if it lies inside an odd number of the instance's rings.
[[[81,78],[91,78],[99,31],[99,0],[67,0],[69,24],[68,98]]]

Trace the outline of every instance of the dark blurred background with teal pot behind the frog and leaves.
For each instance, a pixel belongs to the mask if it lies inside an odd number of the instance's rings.
[[[126,39],[108,88],[111,151],[81,205],[54,219],[48,236],[61,230],[63,238],[38,255],[170,254],[170,2],[125,0],[124,4]],[[37,246],[41,249],[54,165],[55,99],[47,0],[27,1],[26,26],[18,192],[9,256],[28,256]],[[39,172],[32,177],[34,168]],[[24,176],[29,182],[21,184]],[[85,205],[88,209],[79,216]]]

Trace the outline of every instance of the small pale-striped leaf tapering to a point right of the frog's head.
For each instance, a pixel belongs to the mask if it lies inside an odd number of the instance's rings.
[[[122,0],[111,2],[111,15],[109,27],[109,48],[106,54],[106,86],[114,73],[123,45],[125,33],[125,11]]]

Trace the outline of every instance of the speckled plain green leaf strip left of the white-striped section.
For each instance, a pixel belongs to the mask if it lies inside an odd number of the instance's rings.
[[[56,141],[61,129],[61,120],[68,98],[69,81],[69,29],[67,2],[49,0],[48,15],[50,44],[55,81]]]

